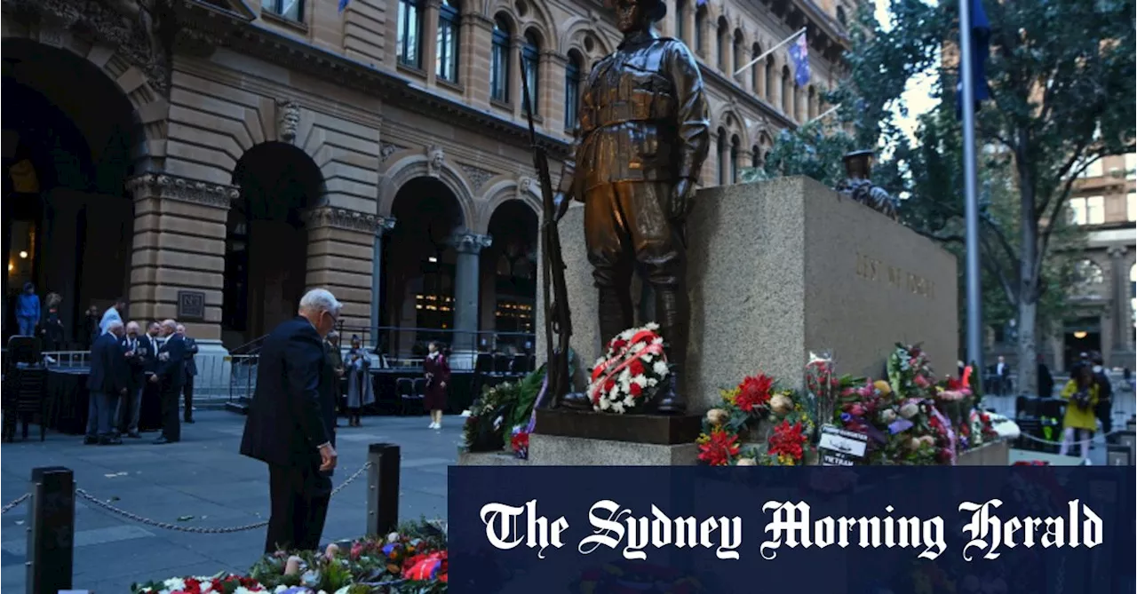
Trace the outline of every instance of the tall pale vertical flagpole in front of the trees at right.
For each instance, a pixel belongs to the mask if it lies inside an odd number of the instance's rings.
[[[971,0],[960,0],[960,81],[963,90],[964,277],[968,291],[968,363],[982,377],[982,301],[979,286],[979,192],[976,173],[976,80],[971,47]],[[1021,367],[1021,366],[1020,366]]]

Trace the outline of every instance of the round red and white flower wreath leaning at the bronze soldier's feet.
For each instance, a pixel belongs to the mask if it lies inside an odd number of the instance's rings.
[[[658,324],[621,332],[608,341],[608,351],[596,360],[588,395],[592,409],[622,415],[644,403],[670,369]]]

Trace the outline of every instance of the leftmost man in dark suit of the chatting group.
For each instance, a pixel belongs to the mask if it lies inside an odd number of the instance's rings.
[[[126,358],[118,345],[123,337],[123,323],[111,321],[106,334],[99,336],[91,345],[91,375],[86,387],[90,391],[91,405],[88,407],[86,440],[84,443],[100,445],[117,445],[123,443],[115,434],[114,415],[118,399],[126,395],[130,388],[130,368]]]

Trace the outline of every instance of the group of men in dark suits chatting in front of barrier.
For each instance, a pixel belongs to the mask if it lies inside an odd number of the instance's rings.
[[[141,438],[139,421],[147,384],[158,388],[161,436],[155,444],[180,442],[179,401],[184,395],[184,423],[193,423],[193,357],[198,345],[185,335],[185,326],[173,319],[152,321],[147,332],[136,321],[124,324],[124,300],[103,313],[101,334],[91,345],[88,377],[88,445],[117,445],[122,436]]]

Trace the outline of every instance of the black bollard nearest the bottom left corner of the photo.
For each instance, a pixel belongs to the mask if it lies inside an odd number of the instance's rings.
[[[70,589],[75,546],[75,476],[59,466],[33,468],[27,508],[27,594]]]

